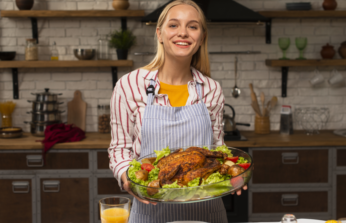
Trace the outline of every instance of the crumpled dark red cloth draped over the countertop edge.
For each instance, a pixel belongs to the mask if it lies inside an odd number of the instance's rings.
[[[77,142],[85,138],[84,131],[74,124],[65,125],[62,123],[48,125],[44,134],[45,139],[42,140],[42,144],[44,144],[43,155],[56,143]]]

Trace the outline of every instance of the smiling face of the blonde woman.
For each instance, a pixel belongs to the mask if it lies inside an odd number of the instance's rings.
[[[156,33],[166,56],[184,59],[192,58],[204,38],[198,11],[185,4],[172,7]]]

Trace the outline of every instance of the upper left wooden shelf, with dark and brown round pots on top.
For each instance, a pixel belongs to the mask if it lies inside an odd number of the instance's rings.
[[[141,17],[144,10],[1,10],[1,17]]]

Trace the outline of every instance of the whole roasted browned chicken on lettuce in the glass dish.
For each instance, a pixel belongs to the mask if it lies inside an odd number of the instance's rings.
[[[227,173],[227,165],[221,165],[217,158],[225,160],[226,153],[221,151],[209,151],[200,147],[189,147],[185,151],[178,149],[175,152],[162,157],[157,164],[160,168],[158,180],[160,186],[172,184],[177,181],[180,186],[187,186],[188,182],[200,177],[206,180],[210,174],[218,171]],[[157,185],[157,184],[156,184]]]

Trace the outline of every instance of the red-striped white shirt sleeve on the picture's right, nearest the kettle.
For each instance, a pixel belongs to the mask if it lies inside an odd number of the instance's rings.
[[[206,95],[205,103],[207,105],[210,120],[211,128],[213,131],[213,145],[225,145],[224,144],[224,135],[222,131],[222,115],[224,111],[225,97],[222,92],[220,84],[212,79],[209,79],[209,86],[211,89]],[[204,87],[204,89],[208,89]]]

